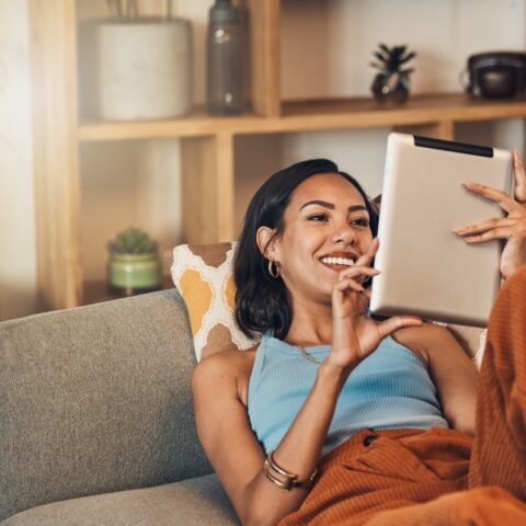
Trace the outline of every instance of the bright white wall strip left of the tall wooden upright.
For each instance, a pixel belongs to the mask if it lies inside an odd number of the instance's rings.
[[[0,0],[0,319],[36,309],[27,3]]]

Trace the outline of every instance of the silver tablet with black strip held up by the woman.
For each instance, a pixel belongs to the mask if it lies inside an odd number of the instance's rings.
[[[512,152],[392,133],[388,137],[370,311],[484,327],[500,288],[499,240],[469,244],[454,229],[503,216],[464,188],[510,193]]]

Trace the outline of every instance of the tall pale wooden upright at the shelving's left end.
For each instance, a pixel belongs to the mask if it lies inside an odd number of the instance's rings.
[[[38,290],[44,309],[82,299],[75,0],[30,0]]]

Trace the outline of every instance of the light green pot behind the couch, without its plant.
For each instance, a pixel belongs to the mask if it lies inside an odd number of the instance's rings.
[[[132,296],[161,288],[161,262],[155,254],[111,254],[107,263],[110,289]]]

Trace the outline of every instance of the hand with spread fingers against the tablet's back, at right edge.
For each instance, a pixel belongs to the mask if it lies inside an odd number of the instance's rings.
[[[468,243],[483,243],[493,239],[506,240],[501,255],[501,274],[504,279],[526,264],[526,174],[517,150],[513,152],[513,173],[515,198],[483,184],[464,183],[473,194],[498,203],[507,215],[455,230],[455,233]]]

